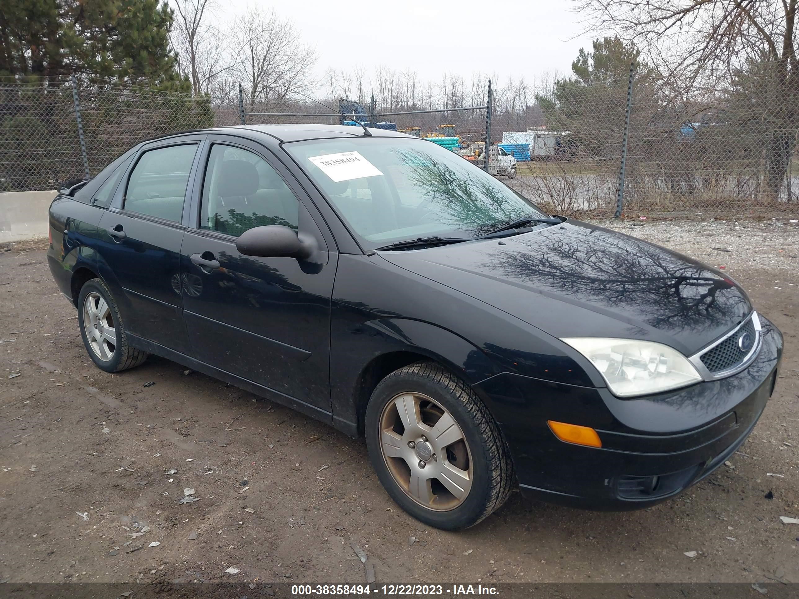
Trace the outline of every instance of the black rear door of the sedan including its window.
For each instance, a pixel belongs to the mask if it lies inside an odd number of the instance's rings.
[[[173,137],[141,148],[100,222],[99,268],[125,329],[187,353],[180,283],[185,197],[205,135]]]

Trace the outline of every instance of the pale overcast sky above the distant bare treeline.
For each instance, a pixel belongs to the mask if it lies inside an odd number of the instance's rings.
[[[590,38],[578,35],[579,15],[568,0],[220,2],[221,21],[248,4],[274,6],[316,46],[320,76],[330,66],[360,64],[370,72],[378,65],[410,68],[425,80],[448,71],[467,81],[474,72],[496,74],[495,85],[520,75],[532,82],[546,72],[569,73],[580,47],[590,46]]]

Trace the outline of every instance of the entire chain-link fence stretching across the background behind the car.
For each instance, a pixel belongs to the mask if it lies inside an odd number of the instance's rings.
[[[588,85],[485,86],[457,97],[245,102],[240,96],[238,103],[87,87],[76,89],[76,103],[69,80],[47,87],[0,81],[0,191],[53,189],[86,168],[93,176],[137,142],[181,130],[242,119],[360,121],[427,137],[491,167],[551,213],[614,216],[621,208],[627,217],[701,220],[797,214],[797,97],[775,87],[768,65],[745,79],[695,87],[670,91],[650,73],[634,73]]]

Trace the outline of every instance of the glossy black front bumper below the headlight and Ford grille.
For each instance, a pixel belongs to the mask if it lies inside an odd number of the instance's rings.
[[[745,441],[777,380],[782,335],[761,317],[757,359],[737,375],[639,399],[505,373],[476,386],[507,439],[523,494],[636,510],[702,480]],[[561,442],[547,420],[596,429],[602,448]]]

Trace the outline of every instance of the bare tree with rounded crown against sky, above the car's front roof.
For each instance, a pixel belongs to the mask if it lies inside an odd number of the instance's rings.
[[[250,109],[256,102],[305,95],[316,86],[316,51],[304,46],[292,22],[273,10],[249,8],[233,23],[231,38],[237,51],[236,73]]]

